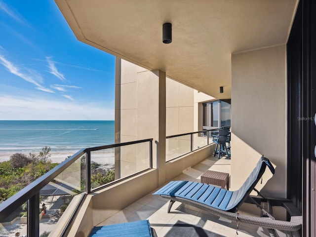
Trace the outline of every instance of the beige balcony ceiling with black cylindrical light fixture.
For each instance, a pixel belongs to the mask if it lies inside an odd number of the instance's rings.
[[[285,44],[298,0],[55,0],[78,40],[216,98],[231,54]],[[162,24],[172,23],[172,43]],[[224,93],[219,87],[224,86]]]

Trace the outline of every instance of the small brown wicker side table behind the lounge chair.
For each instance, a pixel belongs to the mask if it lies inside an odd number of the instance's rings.
[[[201,175],[201,183],[221,186],[222,189],[226,186],[229,190],[229,174],[207,170]]]

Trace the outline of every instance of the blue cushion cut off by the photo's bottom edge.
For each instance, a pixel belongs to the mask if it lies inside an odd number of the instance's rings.
[[[89,237],[152,237],[148,220],[94,227]]]

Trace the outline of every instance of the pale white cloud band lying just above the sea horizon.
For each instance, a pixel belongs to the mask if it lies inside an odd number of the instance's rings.
[[[114,105],[0,96],[3,120],[114,120]],[[112,108],[113,107],[113,108]]]

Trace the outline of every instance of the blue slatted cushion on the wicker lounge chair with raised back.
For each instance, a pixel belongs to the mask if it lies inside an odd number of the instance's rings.
[[[171,181],[154,195],[188,198],[220,210],[236,212],[258,183],[266,166],[274,173],[274,167],[269,159],[262,156],[247,180],[237,191],[227,191],[212,185],[191,181]]]

